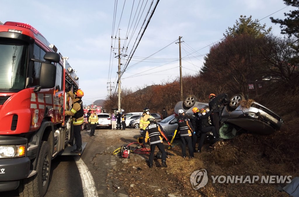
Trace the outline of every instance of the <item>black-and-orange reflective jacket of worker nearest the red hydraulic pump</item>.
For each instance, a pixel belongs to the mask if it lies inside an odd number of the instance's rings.
[[[145,128],[146,134],[145,134],[145,143],[147,143],[149,139],[149,144],[157,144],[157,143],[163,143],[163,128],[160,124],[155,123],[154,121],[151,121],[149,125]],[[165,136],[165,135],[164,135]]]

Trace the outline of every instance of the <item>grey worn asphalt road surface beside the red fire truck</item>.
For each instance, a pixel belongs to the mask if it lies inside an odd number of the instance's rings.
[[[116,165],[116,156],[111,151],[126,144],[126,141],[134,141],[139,136],[138,129],[107,130],[97,129],[94,137],[89,132],[81,132],[83,141],[87,142],[86,149],[81,158],[90,171],[94,180],[94,186],[98,196],[116,196],[113,191],[107,190],[107,184],[111,180],[106,179],[112,166]],[[134,138],[135,136],[135,138]],[[78,156],[57,156],[52,161],[51,181],[45,197],[52,196],[86,196],[82,186],[81,176],[76,164]],[[88,191],[92,190],[88,189]],[[19,196],[18,191],[0,192],[0,196]],[[89,195],[87,196],[95,196]],[[118,196],[127,196],[125,193]]]

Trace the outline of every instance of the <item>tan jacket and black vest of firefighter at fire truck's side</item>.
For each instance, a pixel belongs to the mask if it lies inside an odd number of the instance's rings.
[[[70,111],[65,111],[65,116],[72,116],[73,125],[83,124],[83,101],[79,98],[75,98],[75,95],[72,93],[72,91],[69,91],[68,95],[71,97],[73,104]]]

